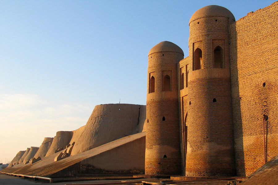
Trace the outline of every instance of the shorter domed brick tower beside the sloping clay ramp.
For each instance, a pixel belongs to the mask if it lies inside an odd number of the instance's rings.
[[[177,63],[183,50],[164,41],[149,52],[145,174],[181,173]]]

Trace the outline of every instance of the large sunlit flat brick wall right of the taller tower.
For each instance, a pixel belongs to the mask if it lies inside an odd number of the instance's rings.
[[[278,2],[230,25],[237,175],[250,175],[278,153]],[[265,84],[264,84],[265,83]],[[263,114],[268,115],[264,123]]]

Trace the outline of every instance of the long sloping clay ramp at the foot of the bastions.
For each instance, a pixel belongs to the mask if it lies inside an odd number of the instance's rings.
[[[15,174],[25,174],[25,175],[34,175],[34,176],[50,176],[54,173],[57,173],[63,169],[81,162],[84,159],[91,158],[88,162],[91,164],[100,167],[110,169],[109,165],[101,164],[105,158],[101,157],[104,154],[107,157],[113,157],[114,165],[118,165],[119,169],[129,170],[129,163],[136,164],[138,166],[133,166],[133,169],[140,170],[144,165],[145,160],[145,151],[141,150],[141,147],[145,145],[145,132],[133,134],[124,138],[117,139],[115,141],[109,142],[102,146],[96,147],[94,149],[82,152],[80,154],[69,156],[67,158],[58,160],[54,162],[54,158],[57,154],[52,154],[50,156],[42,158],[40,161],[35,162],[32,165],[24,165],[23,163],[15,165],[14,167],[5,168],[2,172],[6,173],[15,173]],[[75,146],[74,146],[75,147]],[[132,148],[134,150],[128,150]],[[138,148],[138,150],[135,150]],[[63,153],[64,151],[61,151]],[[133,156],[133,157],[132,157]],[[141,156],[136,158],[134,162],[134,157]],[[96,159],[100,159],[99,162]],[[107,159],[109,160],[109,159]],[[122,162],[120,162],[122,161]],[[86,165],[87,162],[82,162],[83,165]],[[103,165],[103,166],[102,166]],[[107,166],[107,167],[106,167]],[[109,167],[109,168],[108,168]],[[117,166],[114,166],[117,169]],[[111,168],[112,169],[112,168]],[[70,171],[70,169],[69,169]]]

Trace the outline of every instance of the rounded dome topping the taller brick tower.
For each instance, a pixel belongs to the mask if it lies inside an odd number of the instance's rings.
[[[203,18],[203,17],[211,17],[211,16],[229,17],[230,23],[233,23],[235,21],[234,15],[227,8],[223,6],[209,5],[197,10],[191,16],[191,19],[189,20],[189,24],[196,19]]]

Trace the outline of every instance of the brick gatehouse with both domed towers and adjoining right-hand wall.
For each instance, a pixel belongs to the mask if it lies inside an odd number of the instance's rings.
[[[277,20],[278,2],[238,21],[205,6],[188,57],[168,41],[150,50],[145,174],[245,176],[278,154]]]

